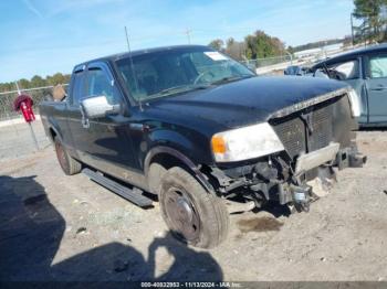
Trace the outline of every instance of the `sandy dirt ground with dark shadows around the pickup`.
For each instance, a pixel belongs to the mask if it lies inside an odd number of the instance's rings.
[[[51,148],[0,162],[0,280],[387,280],[387,132],[362,131],[363,169],[310,213],[231,216],[226,243],[175,242],[156,203],[138,208],[79,174]]]

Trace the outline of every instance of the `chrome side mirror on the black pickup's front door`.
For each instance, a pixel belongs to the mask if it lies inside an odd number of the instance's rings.
[[[81,111],[85,117],[93,119],[118,114],[121,106],[107,103],[106,96],[95,96],[81,100]]]

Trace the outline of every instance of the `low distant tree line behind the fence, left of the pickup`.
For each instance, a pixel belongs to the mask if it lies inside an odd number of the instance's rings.
[[[70,74],[55,73],[54,75],[48,75],[41,77],[39,75],[33,76],[31,79],[21,78],[18,81],[21,89],[42,87],[42,86],[55,86],[57,84],[67,84],[70,82]],[[17,86],[14,82],[0,83],[0,92],[15,90]]]

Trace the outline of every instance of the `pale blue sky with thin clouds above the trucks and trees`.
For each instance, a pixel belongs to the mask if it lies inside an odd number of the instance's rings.
[[[130,49],[238,41],[255,30],[285,45],[351,34],[353,0],[3,0],[0,83]]]

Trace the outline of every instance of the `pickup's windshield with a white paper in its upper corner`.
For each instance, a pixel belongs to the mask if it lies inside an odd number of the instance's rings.
[[[117,61],[118,73],[136,100],[170,96],[233,82],[254,74],[208,47],[144,53]]]

